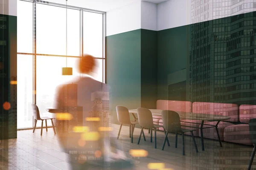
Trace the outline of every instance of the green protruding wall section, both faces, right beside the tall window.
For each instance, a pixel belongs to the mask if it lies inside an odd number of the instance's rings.
[[[157,31],[139,29],[106,37],[107,83],[111,113],[116,105],[128,109],[156,108]]]

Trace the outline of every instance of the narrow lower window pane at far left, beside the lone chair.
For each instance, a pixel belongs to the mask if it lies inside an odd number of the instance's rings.
[[[32,55],[17,54],[17,128],[32,127]]]

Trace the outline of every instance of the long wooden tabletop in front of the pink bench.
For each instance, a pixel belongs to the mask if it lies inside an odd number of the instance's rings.
[[[162,110],[157,109],[149,109],[153,116],[162,116]],[[206,114],[206,113],[192,113],[192,112],[179,112],[176,111],[181,119],[190,119],[190,120],[207,120],[207,121],[221,121],[221,120],[227,120],[230,119],[229,116],[221,116],[221,115],[215,115],[215,114]],[[136,113],[137,109],[131,109],[129,110],[129,113]]]

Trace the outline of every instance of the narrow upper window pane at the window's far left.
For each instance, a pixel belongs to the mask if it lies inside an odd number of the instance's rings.
[[[33,53],[33,3],[17,1],[17,52]]]

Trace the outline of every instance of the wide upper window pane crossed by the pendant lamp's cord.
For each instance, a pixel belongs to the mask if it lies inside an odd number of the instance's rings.
[[[79,56],[80,11],[67,9],[67,15],[67,55]],[[66,55],[66,8],[37,5],[37,53]]]

